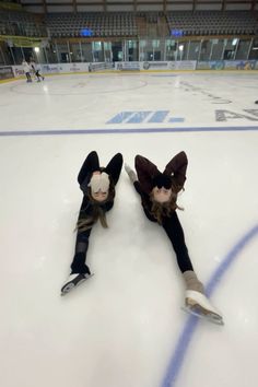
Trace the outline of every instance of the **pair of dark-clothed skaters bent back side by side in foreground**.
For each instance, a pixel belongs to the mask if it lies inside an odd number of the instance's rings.
[[[177,195],[184,189],[188,165],[185,152],[176,154],[160,172],[157,166],[142,155],[134,159],[136,172],[125,165],[125,169],[141,199],[145,216],[163,227],[174,248],[177,265],[185,282],[185,309],[212,322],[223,324],[222,315],[211,305],[204,295],[204,289],[198,279],[185,243],[184,231],[177,216]],[[71,273],[61,288],[61,295],[69,293],[92,273],[86,265],[92,227],[99,220],[107,227],[106,212],[114,206],[115,187],[122,167],[122,155],[117,153],[106,167],[99,165],[98,155],[91,152],[78,175],[83,192],[77,223],[75,251],[71,263]]]

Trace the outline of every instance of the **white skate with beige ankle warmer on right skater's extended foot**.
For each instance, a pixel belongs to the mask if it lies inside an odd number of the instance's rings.
[[[223,325],[221,314],[211,305],[204,295],[202,283],[198,280],[195,271],[187,270],[183,273],[186,283],[185,307],[183,309],[198,317],[204,317],[209,321]]]

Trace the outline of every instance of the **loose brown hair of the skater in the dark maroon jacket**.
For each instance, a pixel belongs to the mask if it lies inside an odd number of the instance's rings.
[[[153,192],[150,194],[151,201],[151,215],[157,221],[159,224],[162,224],[163,218],[169,218],[175,210],[184,210],[184,208],[177,206],[177,194],[172,187],[172,195],[168,201],[160,203],[154,199]]]

